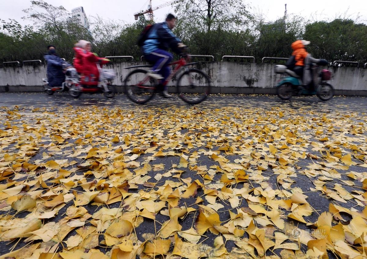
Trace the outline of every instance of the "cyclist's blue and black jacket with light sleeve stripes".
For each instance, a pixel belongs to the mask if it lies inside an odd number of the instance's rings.
[[[172,49],[177,54],[181,54],[181,49],[177,46],[181,40],[168,28],[167,22],[161,22],[153,25],[149,31],[147,40],[142,47],[144,55],[148,55],[157,49],[168,50]]]

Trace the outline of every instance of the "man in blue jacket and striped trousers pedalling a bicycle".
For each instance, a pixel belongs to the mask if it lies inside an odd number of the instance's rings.
[[[167,50],[171,48],[175,53],[182,54],[182,50],[186,47],[171,31],[176,25],[176,19],[175,15],[168,14],[165,22],[153,25],[142,47],[145,60],[153,64],[152,70],[147,75],[160,80],[159,87],[171,73],[168,64],[173,57]],[[168,94],[167,86],[162,94],[167,98],[172,97]]]

